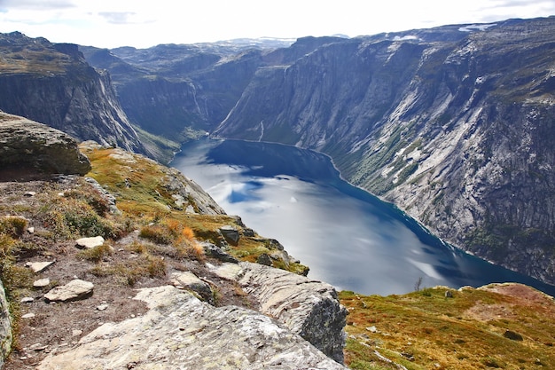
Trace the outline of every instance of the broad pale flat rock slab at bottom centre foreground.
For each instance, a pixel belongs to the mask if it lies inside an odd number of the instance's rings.
[[[37,369],[346,369],[258,312],[215,308],[170,286],[135,299],[150,311],[98,327]]]

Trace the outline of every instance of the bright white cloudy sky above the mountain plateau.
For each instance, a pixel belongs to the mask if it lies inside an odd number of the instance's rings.
[[[101,48],[375,35],[555,15],[555,0],[0,0],[0,32]]]

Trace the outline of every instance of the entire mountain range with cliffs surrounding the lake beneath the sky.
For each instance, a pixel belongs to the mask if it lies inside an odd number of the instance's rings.
[[[160,161],[205,132],[315,149],[442,239],[555,284],[553,17],[79,51],[1,35],[0,109]]]

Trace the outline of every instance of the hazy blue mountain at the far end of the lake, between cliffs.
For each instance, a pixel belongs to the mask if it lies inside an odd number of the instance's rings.
[[[231,112],[260,67],[291,63],[329,40],[233,40],[160,44],[149,49],[80,46],[91,66],[109,71],[131,122],[179,143],[215,129]],[[163,122],[163,124],[160,124]],[[170,161],[173,152],[157,156]]]

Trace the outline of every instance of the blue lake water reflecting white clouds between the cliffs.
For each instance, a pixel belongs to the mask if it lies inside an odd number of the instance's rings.
[[[202,139],[171,163],[228,214],[274,238],[309,277],[338,289],[391,295],[420,287],[520,282],[555,287],[489,264],[439,240],[395,206],[340,178],[329,158],[268,143]]]

